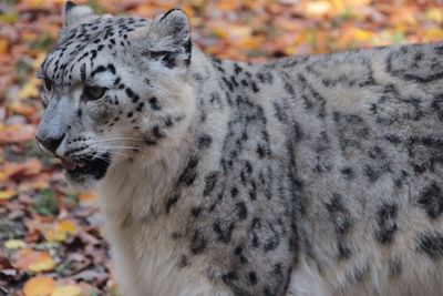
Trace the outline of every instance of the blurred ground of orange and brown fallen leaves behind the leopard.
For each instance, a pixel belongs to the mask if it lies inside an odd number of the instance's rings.
[[[66,186],[35,147],[35,71],[56,40],[62,0],[0,0],[0,295],[119,295],[95,195]],[[262,62],[291,54],[443,40],[443,0],[75,1],[152,18],[182,8],[208,54]]]

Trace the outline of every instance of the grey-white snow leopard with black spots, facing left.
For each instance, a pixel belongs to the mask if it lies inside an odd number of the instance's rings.
[[[443,43],[246,63],[179,9],[63,16],[37,140],[122,295],[443,294]]]

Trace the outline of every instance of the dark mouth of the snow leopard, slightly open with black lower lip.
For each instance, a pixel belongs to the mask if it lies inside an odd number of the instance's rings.
[[[110,154],[103,154],[100,156],[87,156],[81,161],[60,159],[61,163],[72,180],[84,178],[91,176],[94,180],[102,178],[110,166],[111,159]]]

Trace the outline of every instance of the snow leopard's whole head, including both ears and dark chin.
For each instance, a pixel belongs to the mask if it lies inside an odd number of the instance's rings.
[[[91,186],[121,161],[154,160],[178,145],[195,108],[186,14],[97,16],[71,1],[63,14],[40,70],[45,110],[37,140],[68,180]]]

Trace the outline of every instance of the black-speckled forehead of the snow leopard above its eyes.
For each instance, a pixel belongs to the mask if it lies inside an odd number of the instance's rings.
[[[41,67],[44,76],[60,84],[72,75],[94,68],[94,62],[106,54],[116,55],[127,48],[128,33],[145,27],[150,20],[134,17],[97,17],[90,22],[62,30],[56,47],[48,54]]]

